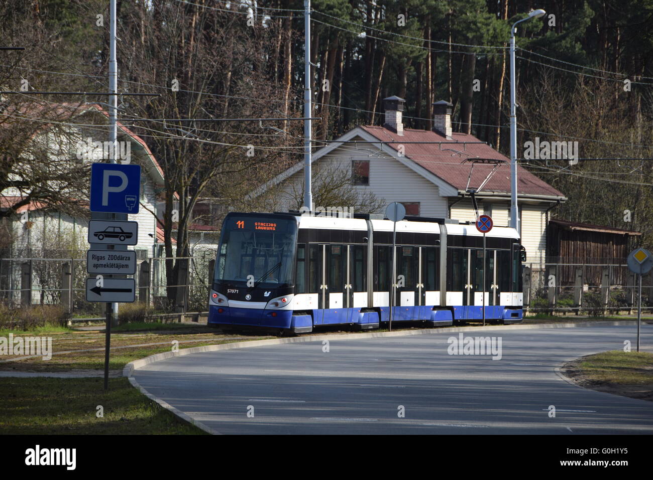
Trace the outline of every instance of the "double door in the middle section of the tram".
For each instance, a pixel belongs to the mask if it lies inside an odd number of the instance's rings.
[[[415,319],[415,306],[419,305],[419,247],[398,245],[396,298],[392,320]]]

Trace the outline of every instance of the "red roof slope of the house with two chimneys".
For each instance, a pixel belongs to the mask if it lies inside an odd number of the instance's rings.
[[[458,188],[458,190],[465,190],[471,169],[471,163],[461,163],[462,160],[465,160],[466,158],[505,160],[507,163],[499,166],[497,171],[494,172],[494,176],[490,181],[488,181],[488,183],[486,183],[480,193],[509,193],[511,191],[510,159],[503,156],[486,143],[467,143],[466,145],[460,143],[479,142],[479,139],[475,138],[473,135],[454,132],[451,135],[453,140],[447,140],[446,137],[431,130],[404,128],[404,135],[398,136],[395,132],[385,127],[364,125],[361,128],[379,140],[384,140],[386,142],[404,140],[404,142],[451,143],[451,145],[441,145],[438,143],[405,143],[405,156],[428,170],[428,172],[433,173],[453,187]],[[456,145],[456,142],[460,144]],[[389,144],[391,148],[397,151],[399,145],[400,143]],[[454,149],[455,151],[452,151],[451,149]],[[494,165],[492,164],[475,164],[470,187],[478,188],[492,168],[494,168]],[[560,191],[551,187],[545,181],[537,178],[533,173],[524,170],[524,168],[519,165],[517,165],[517,194],[564,197],[564,194]]]

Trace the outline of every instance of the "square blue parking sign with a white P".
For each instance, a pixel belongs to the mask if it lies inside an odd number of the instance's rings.
[[[139,202],[140,165],[91,165],[92,212],[138,213]]]

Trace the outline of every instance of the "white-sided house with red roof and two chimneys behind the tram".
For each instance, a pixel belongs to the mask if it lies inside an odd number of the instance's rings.
[[[497,226],[507,226],[510,209],[508,158],[470,134],[452,132],[448,102],[434,103],[432,130],[404,128],[404,99],[389,97],[384,99],[384,104],[383,126],[362,125],[349,130],[313,153],[312,162],[351,172],[351,188],[359,195],[371,190],[378,198],[385,199],[384,205],[401,202],[406,206],[407,215],[473,221],[476,214],[468,188],[478,189],[496,164],[473,164],[471,160],[500,160],[476,198],[479,213],[492,216]],[[273,190],[281,203],[278,208],[289,207],[293,204],[291,192],[296,192],[297,185],[303,183],[303,168],[304,163],[299,162],[252,196]],[[517,179],[522,245],[529,262],[543,263],[549,210],[567,199],[520,166]],[[377,213],[383,213],[383,209]]]

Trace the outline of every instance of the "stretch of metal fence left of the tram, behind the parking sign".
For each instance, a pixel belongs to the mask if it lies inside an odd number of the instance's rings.
[[[0,258],[0,301],[9,307],[61,305],[71,318],[101,318],[104,303],[86,301],[86,258],[57,252],[52,258]],[[195,248],[185,258],[152,258],[136,250],[136,301],[156,313],[206,312],[215,249]],[[78,255],[79,256],[79,255]],[[78,257],[77,256],[77,257]],[[178,262],[178,282],[168,285],[166,261]],[[170,300],[168,300],[170,293]]]

